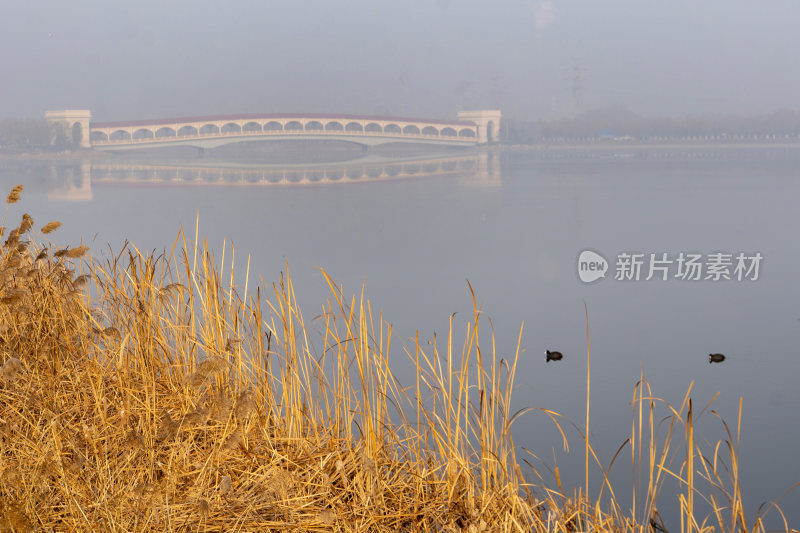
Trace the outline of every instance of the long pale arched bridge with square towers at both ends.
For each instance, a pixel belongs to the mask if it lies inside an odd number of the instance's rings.
[[[458,120],[331,114],[245,114],[91,122],[88,110],[48,111],[74,144],[97,150],[160,146],[214,148],[242,141],[344,140],[372,146],[390,142],[471,146],[498,140],[501,113],[462,111]]]

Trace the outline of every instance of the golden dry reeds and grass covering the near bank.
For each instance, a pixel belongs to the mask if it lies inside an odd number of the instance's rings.
[[[0,530],[644,532],[662,527],[661,497],[680,499],[682,531],[763,529],[741,501],[741,419],[701,446],[691,389],[672,407],[635,386],[612,461],[636,473],[623,508],[587,439],[583,487],[518,456],[513,426],[534,410],[511,402],[519,340],[498,358],[477,306],[465,339],[451,317],[444,339],[398,348],[327,277],[307,320],[288,272],[237,282],[234,258],[196,238],[101,261],[52,245],[56,229],[23,215],[0,249]],[[568,445],[568,424],[536,411]],[[661,494],[668,479],[679,494]]]

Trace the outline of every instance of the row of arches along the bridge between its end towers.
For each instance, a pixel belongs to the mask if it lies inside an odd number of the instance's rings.
[[[241,134],[282,134],[314,132],[332,134],[391,134],[422,137],[477,136],[475,126],[431,125],[426,123],[380,120],[317,120],[281,119],[269,121],[241,120],[227,122],[192,122],[138,127],[92,128],[93,143],[146,140],[171,137],[204,137]]]

